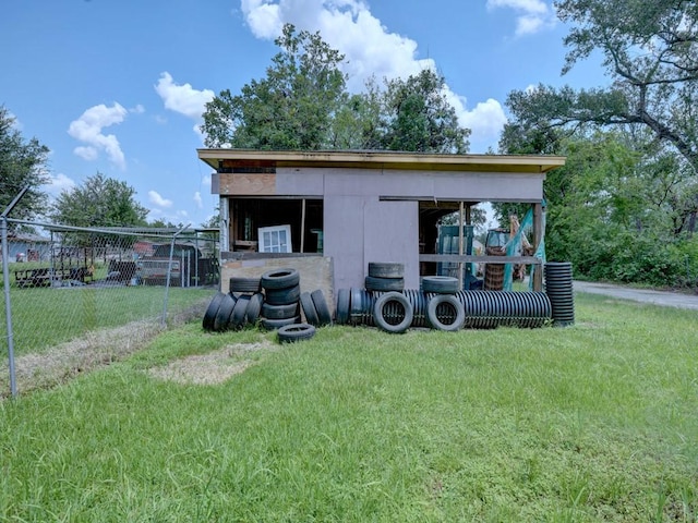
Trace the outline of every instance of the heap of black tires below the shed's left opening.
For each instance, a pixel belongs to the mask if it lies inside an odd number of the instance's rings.
[[[230,278],[230,291],[214,296],[202,325],[214,332],[261,325],[276,330],[280,342],[292,342],[310,339],[315,327],[329,324],[332,314],[323,292],[301,292],[298,270],[284,268],[260,278]]]

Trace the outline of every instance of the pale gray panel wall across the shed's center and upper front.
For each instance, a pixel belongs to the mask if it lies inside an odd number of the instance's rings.
[[[544,179],[544,173],[277,168],[275,195],[324,199],[324,254],[333,258],[335,290],[363,287],[370,262],[405,264],[406,288],[418,289],[418,200],[540,202]]]

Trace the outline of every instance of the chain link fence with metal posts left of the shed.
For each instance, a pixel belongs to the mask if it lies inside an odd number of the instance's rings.
[[[0,396],[118,360],[218,289],[217,230],[2,221]]]

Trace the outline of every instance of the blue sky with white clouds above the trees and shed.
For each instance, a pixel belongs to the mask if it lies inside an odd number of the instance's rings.
[[[263,77],[286,22],[339,49],[354,90],[435,68],[473,154],[496,148],[510,90],[605,83],[593,61],[561,76],[567,28],[547,0],[4,0],[0,105],[50,148],[50,194],[101,172],[149,220],[198,226],[217,205],[204,104]]]

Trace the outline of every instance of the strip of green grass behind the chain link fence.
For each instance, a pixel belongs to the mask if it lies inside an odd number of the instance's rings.
[[[170,288],[168,317],[215,291],[203,288]],[[71,287],[10,289],[13,345],[16,355],[45,352],[87,332],[131,321],[159,321],[165,303],[164,287]],[[4,349],[7,323],[4,300],[0,305],[0,339]]]

